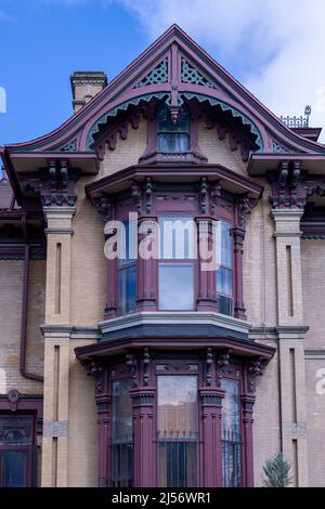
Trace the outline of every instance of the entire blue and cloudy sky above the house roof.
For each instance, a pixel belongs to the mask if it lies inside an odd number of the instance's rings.
[[[325,127],[324,0],[0,0],[0,145],[58,127],[72,73],[113,79],[173,23],[276,115],[310,104]]]

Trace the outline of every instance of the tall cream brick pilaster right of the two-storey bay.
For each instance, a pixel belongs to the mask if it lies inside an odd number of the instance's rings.
[[[303,302],[300,253],[302,209],[272,210],[275,222],[281,440],[294,485],[308,486]]]

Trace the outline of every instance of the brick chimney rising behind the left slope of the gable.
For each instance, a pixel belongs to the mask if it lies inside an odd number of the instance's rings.
[[[107,84],[105,73],[95,70],[77,70],[70,76],[73,107],[77,113]]]

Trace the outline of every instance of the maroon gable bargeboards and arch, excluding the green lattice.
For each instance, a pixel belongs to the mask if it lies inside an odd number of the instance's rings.
[[[168,58],[167,82],[134,87],[143,80],[157,63]],[[181,58],[197,69],[210,87],[184,82],[181,78]],[[322,146],[313,141],[302,139],[284,126],[280,119],[264,108],[244,87],[234,80],[221,66],[205,53],[177,25],[171,26],[157,41],[155,41],[140,57],[138,57],[125,71],[112,80],[95,97],[83,108],[68,119],[63,126],[50,134],[24,144],[11,145],[11,149],[50,151],[61,149],[74,140],[79,151],[87,147],[89,131],[103,114],[118,105],[139,100],[144,93],[169,93],[171,106],[176,108],[180,95],[184,92],[205,93],[214,100],[223,101],[252,118],[261,132],[264,149],[270,151],[272,140],[285,142],[290,149],[297,152],[324,152]]]

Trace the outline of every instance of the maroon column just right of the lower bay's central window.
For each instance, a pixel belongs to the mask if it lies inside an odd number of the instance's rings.
[[[222,486],[222,401],[224,391],[221,389],[202,389],[202,486]]]

